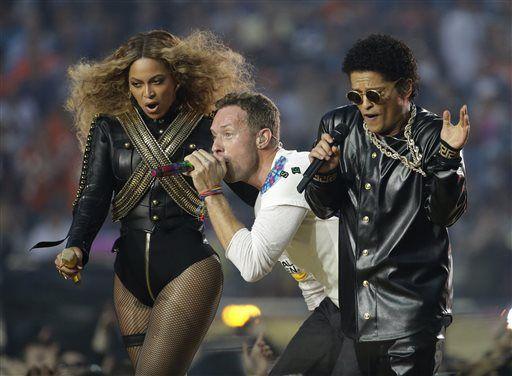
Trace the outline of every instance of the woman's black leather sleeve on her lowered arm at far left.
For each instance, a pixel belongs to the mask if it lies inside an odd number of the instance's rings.
[[[106,119],[91,125],[82,164],[82,175],[73,207],[73,222],[66,247],[78,247],[83,252],[83,265],[96,234],[108,214],[113,192],[110,142],[105,131]]]

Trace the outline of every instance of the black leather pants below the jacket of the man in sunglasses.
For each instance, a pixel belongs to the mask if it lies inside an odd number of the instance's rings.
[[[444,328],[391,341],[343,342],[333,375],[431,376],[443,357]]]

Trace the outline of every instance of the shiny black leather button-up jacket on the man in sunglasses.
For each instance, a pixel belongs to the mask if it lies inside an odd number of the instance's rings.
[[[320,218],[340,215],[342,328],[359,341],[404,337],[451,322],[452,258],[446,227],[466,209],[461,158],[439,153],[442,119],[417,107],[412,128],[427,177],[383,155],[356,106],[323,116],[319,135],[345,123],[337,178],[313,180],[306,199]],[[385,142],[409,158],[403,136]]]

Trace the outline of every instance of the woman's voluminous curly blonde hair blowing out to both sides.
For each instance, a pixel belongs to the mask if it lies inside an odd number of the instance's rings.
[[[210,32],[195,31],[183,39],[164,30],[138,33],[105,59],[68,69],[66,109],[73,114],[82,147],[95,114],[115,115],[131,106],[128,71],[141,57],[166,64],[180,85],[177,103],[203,114],[227,93],[254,87],[252,67]]]

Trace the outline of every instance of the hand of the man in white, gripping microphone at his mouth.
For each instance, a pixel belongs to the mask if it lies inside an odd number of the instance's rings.
[[[205,150],[196,150],[187,155],[185,160],[194,166],[194,170],[187,175],[192,178],[198,192],[220,186],[226,175],[226,163],[223,160],[217,160]]]

